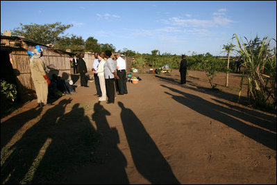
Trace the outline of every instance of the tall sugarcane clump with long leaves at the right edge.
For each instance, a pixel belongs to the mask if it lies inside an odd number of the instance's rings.
[[[271,49],[270,42],[276,39],[264,37],[262,41],[256,37],[248,40],[246,44],[236,34],[233,38],[237,40],[237,53],[242,56],[242,73],[240,83],[239,99],[242,94],[242,82],[247,82],[247,97],[256,107],[271,107],[276,111],[276,46]]]

